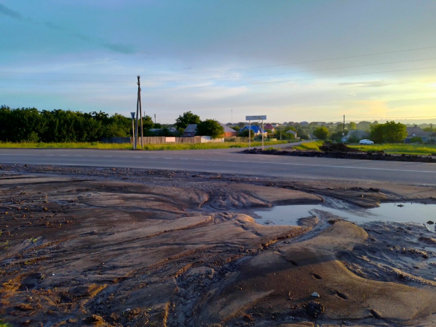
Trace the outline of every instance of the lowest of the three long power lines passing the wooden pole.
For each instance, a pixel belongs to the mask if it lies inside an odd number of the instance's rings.
[[[198,88],[210,88],[210,87],[225,87],[225,86],[244,86],[244,85],[258,85],[258,84],[272,84],[272,83],[286,83],[286,82],[300,82],[309,81],[313,79],[322,78],[337,78],[337,77],[350,77],[350,76],[360,76],[360,75],[371,75],[371,74],[381,74],[381,73],[392,73],[392,72],[406,72],[412,70],[422,70],[422,69],[432,69],[436,66],[431,67],[421,67],[421,68],[409,68],[409,69],[396,69],[387,70],[381,72],[370,72],[370,73],[360,73],[360,74],[348,74],[348,75],[334,75],[334,76],[323,76],[323,77],[312,77],[312,78],[300,78],[291,79],[286,81],[272,81],[272,82],[254,82],[254,83],[243,83],[243,84],[228,84],[228,85],[202,85],[202,86],[181,86],[181,87],[168,87],[168,88],[147,88],[147,90],[162,90],[162,89],[198,89]],[[90,88],[90,87],[25,87],[25,86],[0,86],[0,89],[120,89],[120,88]],[[130,88],[122,88],[125,90],[130,90]]]

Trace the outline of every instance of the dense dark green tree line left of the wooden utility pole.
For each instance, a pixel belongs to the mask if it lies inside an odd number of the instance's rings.
[[[153,128],[150,116],[143,117],[144,129]],[[0,107],[0,141],[9,142],[93,142],[102,137],[131,136],[132,119],[118,113],[84,113],[54,109]]]

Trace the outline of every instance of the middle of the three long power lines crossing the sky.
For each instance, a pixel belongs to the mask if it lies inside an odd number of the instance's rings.
[[[176,79],[176,80],[146,81],[146,82],[161,82],[161,83],[163,83],[163,82],[192,82],[192,81],[208,81],[208,80],[216,80],[216,79],[261,77],[261,76],[286,75],[286,74],[297,74],[297,73],[307,73],[307,72],[320,72],[320,71],[335,70],[335,69],[344,69],[344,68],[357,68],[357,67],[368,67],[368,66],[376,66],[376,65],[399,64],[399,63],[405,63],[405,62],[426,61],[426,60],[434,60],[434,59],[436,59],[436,58],[413,59],[413,60],[404,60],[404,61],[389,61],[389,62],[380,62],[380,63],[375,63],[375,64],[342,66],[342,67],[333,67],[333,68],[320,68],[320,69],[310,69],[310,70],[302,70],[302,71],[296,71],[296,72],[283,72],[283,73],[261,74],[261,75],[246,75],[246,76],[233,76],[233,77],[216,77],[216,78],[200,78],[200,79]],[[0,80],[2,80],[2,81],[133,83],[132,81],[90,81],[90,80],[39,79],[39,78],[0,78]]]

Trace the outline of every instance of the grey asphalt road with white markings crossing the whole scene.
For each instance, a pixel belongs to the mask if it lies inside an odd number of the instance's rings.
[[[286,179],[388,181],[436,186],[436,164],[273,156],[243,154],[240,151],[0,149],[0,163],[187,170]]]

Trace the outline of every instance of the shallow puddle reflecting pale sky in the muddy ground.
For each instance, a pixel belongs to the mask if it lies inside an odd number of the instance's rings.
[[[436,204],[421,203],[382,203],[378,208],[350,209],[330,208],[323,204],[282,205],[269,211],[255,211],[255,215],[263,218],[259,223],[264,225],[298,225],[298,219],[310,217],[311,210],[328,211],[334,215],[355,223],[369,221],[414,222],[427,225],[427,221],[436,221]],[[433,231],[433,226],[428,225]]]

